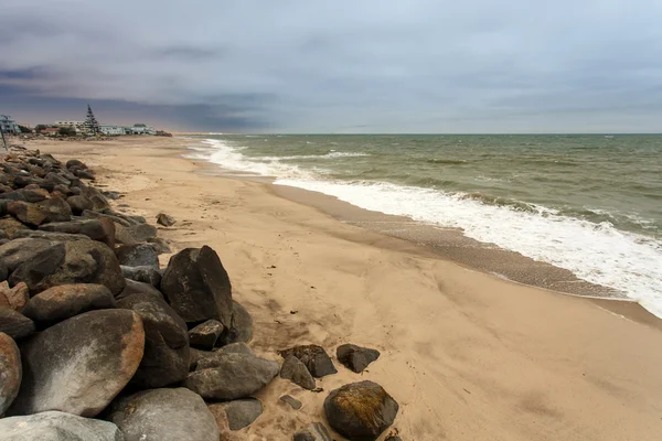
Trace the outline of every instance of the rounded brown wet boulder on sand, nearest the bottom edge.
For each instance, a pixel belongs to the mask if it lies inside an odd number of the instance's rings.
[[[329,424],[350,440],[376,440],[398,411],[397,402],[373,381],[345,385],[324,400]]]

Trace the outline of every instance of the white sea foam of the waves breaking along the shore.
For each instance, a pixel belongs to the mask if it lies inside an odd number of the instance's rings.
[[[662,318],[662,243],[652,238],[618,230],[609,223],[563,216],[544,207],[531,213],[433,189],[324,181],[314,172],[280,163],[275,158],[255,161],[222,141],[209,143],[213,150],[209,160],[224,168],[275,176],[276,184],[325,193],[363,208],[462,228],[477,240],[568,269],[584,280],[621,291]]]

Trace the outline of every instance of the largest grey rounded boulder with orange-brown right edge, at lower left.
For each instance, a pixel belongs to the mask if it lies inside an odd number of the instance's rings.
[[[61,411],[94,417],[124,389],[142,359],[140,316],[90,311],[20,345],[23,381],[8,415]]]

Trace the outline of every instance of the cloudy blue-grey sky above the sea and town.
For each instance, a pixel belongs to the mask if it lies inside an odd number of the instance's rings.
[[[661,132],[659,0],[4,0],[0,114],[213,132]]]

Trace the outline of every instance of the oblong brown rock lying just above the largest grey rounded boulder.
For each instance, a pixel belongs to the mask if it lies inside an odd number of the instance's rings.
[[[30,299],[23,314],[51,325],[87,311],[113,308],[115,298],[103,284],[61,284]]]

